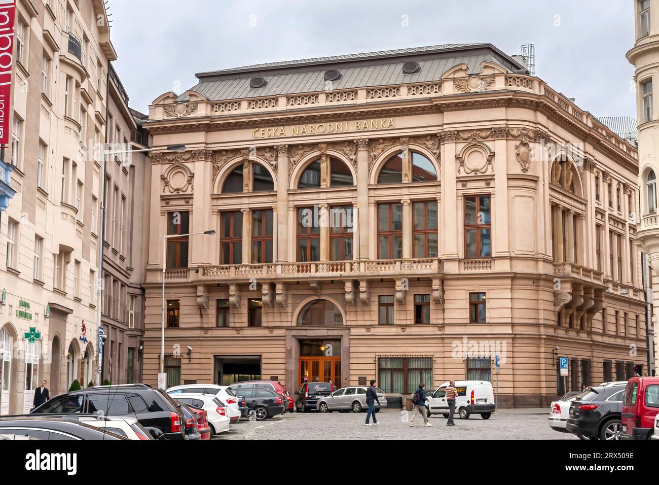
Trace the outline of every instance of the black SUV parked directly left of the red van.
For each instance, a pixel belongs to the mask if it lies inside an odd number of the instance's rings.
[[[570,403],[565,428],[581,439],[620,439],[625,383],[589,387]]]

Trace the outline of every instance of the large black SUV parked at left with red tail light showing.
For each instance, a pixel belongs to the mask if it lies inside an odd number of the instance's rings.
[[[187,439],[181,406],[146,384],[101,385],[61,394],[32,410],[33,414],[87,412],[130,416],[155,439]]]

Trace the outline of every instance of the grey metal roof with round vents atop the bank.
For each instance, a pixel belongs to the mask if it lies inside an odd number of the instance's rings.
[[[418,72],[403,73],[403,64],[409,61],[418,62]],[[324,73],[328,69],[337,69],[341,73],[341,77],[332,82],[333,90],[432,82],[439,81],[445,71],[461,63],[467,65],[470,74],[479,73],[483,61],[497,63],[509,72],[524,69],[491,44],[446,44],[258,64],[202,73],[197,75],[200,82],[190,90],[203,94],[211,101],[319,92],[326,89]],[[250,79],[256,76],[266,79],[267,84],[262,88],[251,88]],[[188,96],[182,94],[177,102],[188,99]]]

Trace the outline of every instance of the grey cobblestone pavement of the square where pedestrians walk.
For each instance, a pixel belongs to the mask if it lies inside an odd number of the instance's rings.
[[[552,430],[544,410],[502,410],[489,420],[475,415],[468,420],[456,418],[453,427],[446,426],[441,414],[434,414],[428,428],[421,416],[416,416],[411,428],[411,414],[378,412],[380,425],[364,426],[365,412],[287,413],[260,422],[241,420],[231,425],[231,431],[213,439],[578,439]]]

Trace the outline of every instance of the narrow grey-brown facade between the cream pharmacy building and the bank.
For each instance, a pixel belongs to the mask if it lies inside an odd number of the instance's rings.
[[[129,108],[129,97],[117,73],[109,71],[107,146],[103,187],[103,293],[101,381],[140,382],[139,349],[143,328],[142,287],[146,244],[150,169],[144,115]]]

